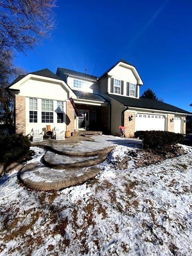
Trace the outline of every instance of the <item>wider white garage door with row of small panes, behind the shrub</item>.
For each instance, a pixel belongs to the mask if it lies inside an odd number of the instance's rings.
[[[163,115],[139,114],[135,116],[136,131],[165,130]]]

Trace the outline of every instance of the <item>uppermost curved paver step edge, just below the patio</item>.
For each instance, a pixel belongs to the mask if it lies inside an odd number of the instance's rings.
[[[42,145],[42,144],[33,144],[36,147],[40,147],[40,148],[45,148],[46,150],[50,150],[56,154],[60,154],[60,155],[68,155],[68,156],[99,156],[99,155],[105,155],[108,154],[110,151],[112,151],[115,146],[110,146],[108,148],[102,148],[99,150],[92,150],[92,151],[87,151],[87,152],[83,152],[83,151],[76,151],[76,150],[60,150],[58,149],[57,145],[51,145],[51,146],[47,146],[47,145]]]

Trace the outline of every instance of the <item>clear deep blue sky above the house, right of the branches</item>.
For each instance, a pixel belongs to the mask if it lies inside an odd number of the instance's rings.
[[[15,64],[28,72],[57,67],[100,76],[118,60],[136,66],[144,86],[188,111],[192,103],[191,0],[58,1],[51,39]]]

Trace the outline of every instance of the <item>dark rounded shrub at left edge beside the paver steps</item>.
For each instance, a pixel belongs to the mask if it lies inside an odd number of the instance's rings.
[[[30,152],[30,141],[22,134],[0,136],[0,163],[20,162]]]

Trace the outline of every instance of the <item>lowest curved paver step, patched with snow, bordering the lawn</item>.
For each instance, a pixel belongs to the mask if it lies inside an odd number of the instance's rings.
[[[101,171],[91,167],[84,170],[54,170],[38,163],[26,164],[19,172],[20,180],[38,190],[59,190],[80,184]]]

